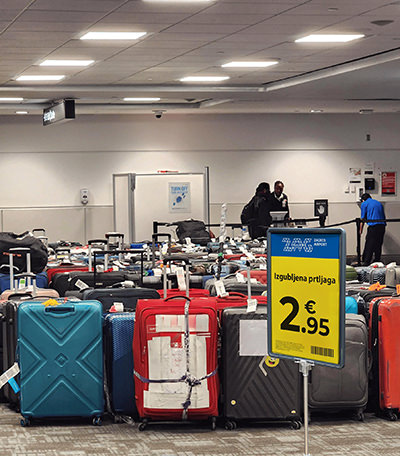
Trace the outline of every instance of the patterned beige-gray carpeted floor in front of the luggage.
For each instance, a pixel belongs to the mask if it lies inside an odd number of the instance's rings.
[[[105,420],[42,422],[20,426],[20,415],[0,404],[1,456],[242,456],[303,455],[303,429],[285,424],[252,425],[212,432],[206,423],[154,424],[144,432],[136,425]],[[318,418],[310,426],[313,456],[400,455],[400,421],[367,415],[364,423]]]

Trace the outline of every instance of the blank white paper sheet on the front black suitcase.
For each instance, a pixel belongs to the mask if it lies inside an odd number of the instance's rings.
[[[267,320],[240,320],[239,356],[265,356],[267,354]]]

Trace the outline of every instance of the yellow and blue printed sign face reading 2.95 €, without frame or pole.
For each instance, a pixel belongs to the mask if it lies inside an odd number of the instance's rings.
[[[288,238],[278,238],[277,242],[282,240],[282,245],[290,248]],[[269,258],[271,356],[331,365],[342,362],[340,255],[333,253],[329,239],[324,241],[318,238],[325,250],[312,248],[312,236],[295,238],[294,250],[272,249],[281,256],[270,254]],[[339,242],[333,244],[339,246]]]

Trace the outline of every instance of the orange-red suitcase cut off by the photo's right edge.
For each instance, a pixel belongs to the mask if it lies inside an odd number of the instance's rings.
[[[370,349],[376,409],[395,421],[400,409],[400,297],[370,303]]]

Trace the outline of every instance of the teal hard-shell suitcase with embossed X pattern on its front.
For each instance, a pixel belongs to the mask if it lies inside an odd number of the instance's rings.
[[[102,305],[98,301],[18,308],[22,425],[32,418],[92,417],[104,409]]]

